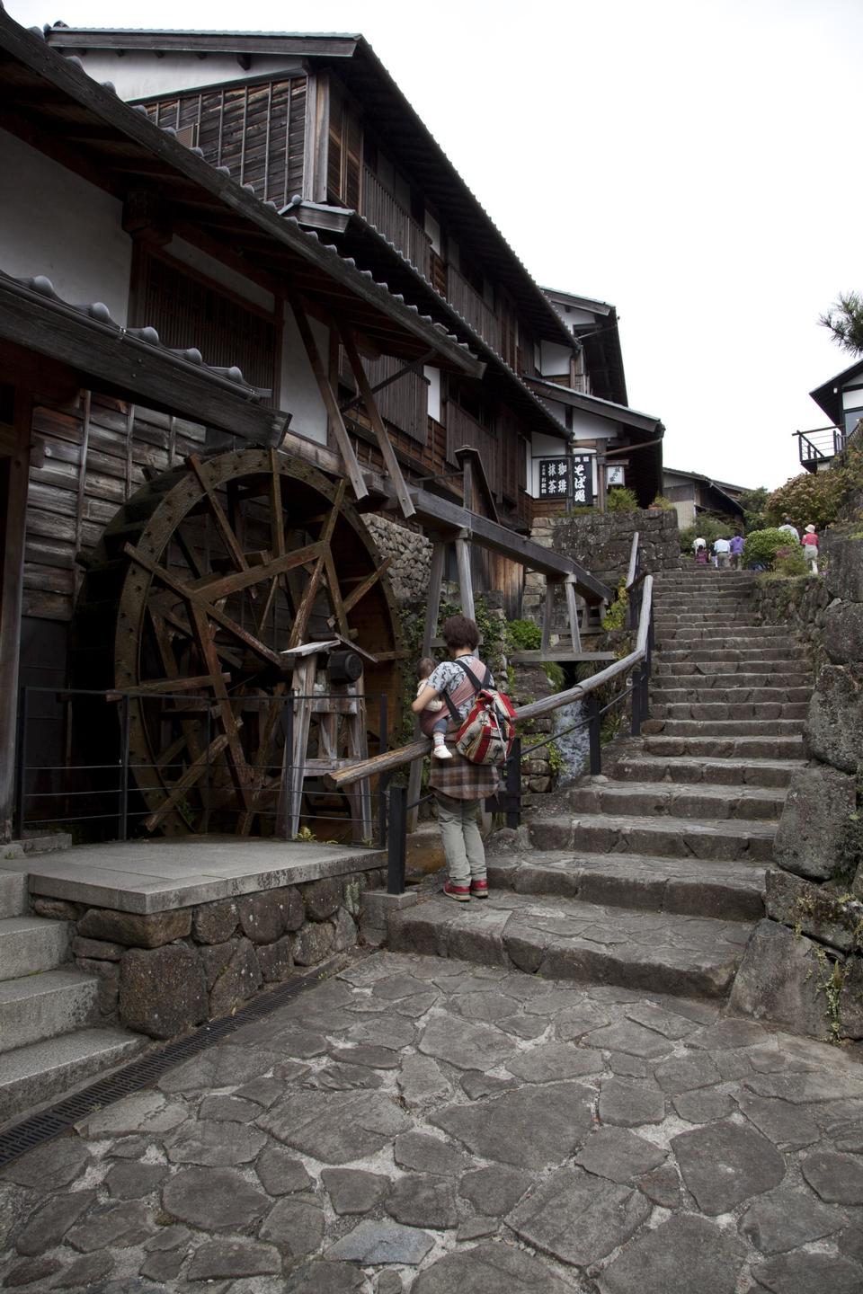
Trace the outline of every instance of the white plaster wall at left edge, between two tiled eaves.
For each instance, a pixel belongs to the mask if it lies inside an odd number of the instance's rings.
[[[132,239],[122,203],[5,131],[0,175],[0,269],[16,278],[45,274],[63,300],[104,302],[124,326]]]

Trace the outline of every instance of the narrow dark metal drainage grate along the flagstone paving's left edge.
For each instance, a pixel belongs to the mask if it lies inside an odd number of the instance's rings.
[[[250,1021],[268,1016],[298,992],[314,987],[321,980],[325,980],[335,970],[338,965],[340,965],[338,959],[326,961],[316,967],[309,974],[291,980],[278,989],[270,989],[269,992],[263,992],[254,1002],[248,1002],[245,1007],[241,1007],[235,1014],[207,1021],[206,1025],[201,1025],[188,1038],[181,1038],[176,1043],[167,1043],[159,1051],[151,1052],[141,1060],[131,1061],[131,1064],[124,1065],[115,1074],[98,1079],[98,1082],[92,1083],[83,1091],[65,1097],[57,1105],[52,1105],[50,1109],[34,1114],[6,1132],[0,1132],[0,1168],[19,1156],[26,1154],[27,1150],[41,1145],[43,1141],[50,1141],[52,1137],[66,1132],[80,1119],[92,1114],[93,1110],[111,1105],[123,1096],[131,1096],[132,1092],[140,1092],[144,1087],[150,1087],[173,1065],[189,1060],[190,1056],[197,1056],[198,1052],[206,1051],[207,1047],[212,1047],[228,1034],[233,1034],[237,1029],[250,1024]]]

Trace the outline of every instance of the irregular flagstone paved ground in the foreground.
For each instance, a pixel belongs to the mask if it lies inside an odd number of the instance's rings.
[[[859,1294],[863,1065],[714,1004],[409,954],[0,1175],[0,1285]]]

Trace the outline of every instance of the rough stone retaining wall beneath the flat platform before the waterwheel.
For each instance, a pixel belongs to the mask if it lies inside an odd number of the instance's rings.
[[[384,884],[375,868],[154,914],[52,898],[32,907],[72,923],[72,956],[98,976],[104,1022],[173,1038],[353,947],[364,892]]]

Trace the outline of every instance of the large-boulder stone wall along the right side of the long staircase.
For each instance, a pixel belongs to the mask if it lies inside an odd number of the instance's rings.
[[[863,1038],[863,540],[831,543],[824,578],[765,584],[765,619],[788,622],[818,663],[767,875],[767,919],[741,963],[732,1009],[787,1029]]]

